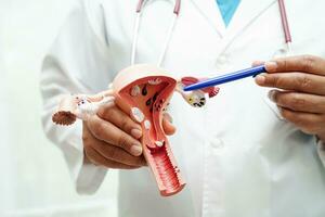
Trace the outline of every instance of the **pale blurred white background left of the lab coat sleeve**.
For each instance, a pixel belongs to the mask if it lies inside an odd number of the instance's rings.
[[[117,173],[78,195],[41,129],[41,62],[73,1],[0,0],[0,217],[117,215]]]

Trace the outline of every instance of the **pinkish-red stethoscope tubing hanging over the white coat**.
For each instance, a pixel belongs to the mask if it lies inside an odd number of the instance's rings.
[[[132,53],[131,53],[131,65],[134,65],[134,63],[135,63],[138,37],[139,37],[140,25],[141,25],[141,16],[142,16],[142,12],[145,8],[145,4],[147,2],[148,2],[148,0],[139,0],[138,5],[136,5],[133,42],[132,42]],[[291,43],[292,43],[291,33],[290,33],[290,28],[289,28],[289,23],[288,23],[288,18],[287,18],[284,0],[277,0],[277,2],[278,2],[281,22],[282,22],[284,38],[285,38],[285,43],[286,43],[286,49],[285,49],[285,51],[283,51],[283,53],[288,54],[291,51]],[[165,59],[166,52],[168,50],[168,44],[171,40],[173,29],[174,29],[174,26],[177,24],[177,21],[178,21],[179,14],[180,14],[180,10],[181,10],[181,0],[174,0],[173,17],[172,17],[170,26],[168,28],[167,37],[165,39],[162,51],[159,55],[157,66],[160,66]]]

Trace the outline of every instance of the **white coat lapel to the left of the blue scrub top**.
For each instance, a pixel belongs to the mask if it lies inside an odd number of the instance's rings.
[[[198,12],[211,25],[222,38],[225,34],[225,26],[216,0],[191,0]]]

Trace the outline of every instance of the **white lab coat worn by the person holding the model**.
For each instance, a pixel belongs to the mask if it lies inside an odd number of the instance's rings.
[[[158,60],[172,2],[150,1],[143,13],[138,63]],[[138,0],[84,0],[72,11],[44,60],[43,125],[63,150],[76,188],[93,193],[107,169],[82,165],[81,123],[54,126],[58,95],[95,93],[129,66]],[[325,58],[323,0],[287,0],[294,54]],[[243,0],[225,29],[214,0],[183,0],[162,67],[171,75],[211,77],[282,55],[276,0]],[[221,86],[202,110],[171,102],[170,138],[187,186],[161,197],[147,168],[120,171],[119,215],[126,217],[323,217],[325,151],[315,137],[278,116],[253,79]],[[109,171],[108,171],[109,176]]]

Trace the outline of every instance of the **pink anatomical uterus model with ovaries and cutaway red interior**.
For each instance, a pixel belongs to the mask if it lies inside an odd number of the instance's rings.
[[[203,107],[207,102],[207,95],[212,98],[218,94],[219,88],[216,87],[183,91],[185,86],[199,80],[194,77],[177,80],[156,66],[134,65],[118,73],[108,90],[94,95],[63,97],[52,120],[57,125],[72,125],[77,118],[87,122],[102,105],[117,104],[141,124],[143,154],[153,171],[160,194],[173,195],[184,188],[185,181],[161,127],[162,115],[168,108],[173,92],[179,92],[193,107]]]

